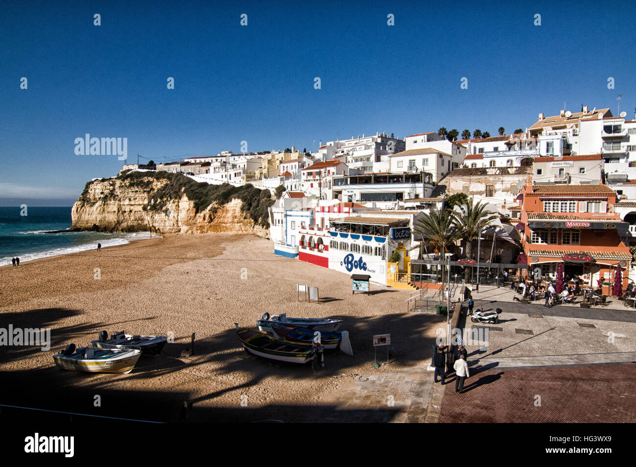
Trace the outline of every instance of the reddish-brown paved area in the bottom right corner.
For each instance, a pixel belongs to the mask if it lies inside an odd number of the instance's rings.
[[[447,381],[440,423],[630,423],[636,413],[633,363],[484,370],[461,394]]]

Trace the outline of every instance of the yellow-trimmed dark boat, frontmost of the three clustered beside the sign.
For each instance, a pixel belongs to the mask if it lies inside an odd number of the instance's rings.
[[[243,348],[252,355],[279,360],[280,362],[307,363],[314,360],[315,349],[312,344],[279,341],[263,331],[255,329],[239,330],[237,337]]]

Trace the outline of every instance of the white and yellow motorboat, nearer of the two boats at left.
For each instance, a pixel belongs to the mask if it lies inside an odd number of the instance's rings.
[[[62,353],[53,356],[55,365],[64,370],[90,373],[130,373],[139,360],[139,349],[98,349],[69,344]]]

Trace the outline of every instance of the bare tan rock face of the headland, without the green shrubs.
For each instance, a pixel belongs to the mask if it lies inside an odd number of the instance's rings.
[[[100,232],[157,233],[254,233],[268,236],[268,230],[255,225],[242,211],[242,201],[230,200],[219,206],[216,202],[195,212],[195,203],[182,191],[177,198],[165,200],[162,210],[148,208],[151,195],[168,180],[153,177],[142,183],[114,178],[94,180],[73,205],[73,230]]]

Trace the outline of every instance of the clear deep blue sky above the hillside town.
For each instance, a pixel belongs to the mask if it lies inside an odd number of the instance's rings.
[[[242,140],[510,132],[564,102],[617,114],[619,92],[636,107],[633,2],[55,3],[0,5],[0,205],[70,205],[116,175],[116,156],[74,153],[85,133],[162,161]]]

